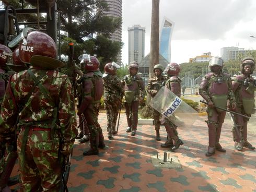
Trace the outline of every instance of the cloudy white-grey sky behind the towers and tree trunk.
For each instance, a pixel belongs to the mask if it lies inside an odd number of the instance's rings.
[[[150,51],[152,0],[123,0],[122,62],[128,62],[127,28],[146,28],[145,55]],[[160,0],[161,26],[164,17],[174,22],[171,62],[211,52],[220,56],[224,46],[256,50],[256,1],[254,0]]]

